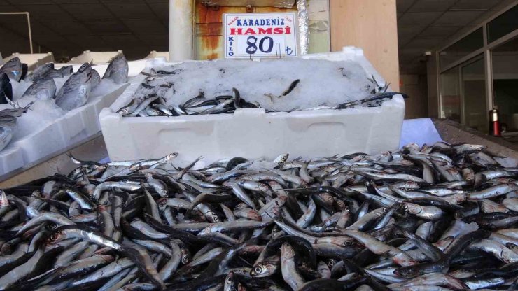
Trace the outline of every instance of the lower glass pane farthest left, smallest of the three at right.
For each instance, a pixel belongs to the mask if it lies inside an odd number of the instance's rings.
[[[461,88],[458,66],[441,74],[441,116],[461,122]]]

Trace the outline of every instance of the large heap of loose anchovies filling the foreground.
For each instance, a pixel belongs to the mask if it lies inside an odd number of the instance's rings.
[[[517,290],[518,168],[484,146],[177,155],[0,192],[0,290]]]

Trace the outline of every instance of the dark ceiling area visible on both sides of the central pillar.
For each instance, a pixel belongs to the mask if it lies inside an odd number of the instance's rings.
[[[515,0],[397,0],[401,73],[426,73],[424,52]],[[168,49],[169,0],[0,0],[28,11],[34,52],[56,59],[83,50],[124,50],[128,59]],[[29,52],[25,15],[0,15],[0,52]]]

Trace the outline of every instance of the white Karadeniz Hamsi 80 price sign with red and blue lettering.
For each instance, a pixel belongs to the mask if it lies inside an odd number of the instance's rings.
[[[297,57],[295,13],[225,13],[225,58]]]

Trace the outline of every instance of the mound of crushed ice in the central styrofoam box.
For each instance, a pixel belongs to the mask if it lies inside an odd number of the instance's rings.
[[[149,85],[172,83],[164,94],[168,105],[183,104],[200,92],[207,99],[232,95],[235,87],[247,102],[258,103],[267,110],[291,111],[364,99],[371,96],[374,89],[368,80],[371,76],[352,61],[221,59],[184,62],[155,68],[155,71],[165,74]],[[291,88],[295,80],[299,82]],[[134,97],[144,99],[148,93],[148,90],[137,91]]]

